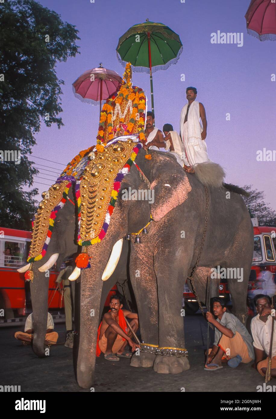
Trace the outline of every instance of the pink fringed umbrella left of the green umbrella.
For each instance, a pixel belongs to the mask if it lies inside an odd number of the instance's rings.
[[[74,95],[82,102],[92,103],[92,105],[100,103],[101,116],[102,101],[106,101],[119,91],[122,82],[122,78],[116,71],[104,68],[100,62],[100,67],[85,71],[72,86]]]

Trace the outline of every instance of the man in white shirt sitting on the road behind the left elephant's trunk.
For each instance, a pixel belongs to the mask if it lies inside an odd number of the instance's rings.
[[[48,313],[47,318],[47,330],[46,330],[46,336],[45,336],[45,345],[55,345],[57,343],[57,338],[59,335],[57,332],[54,332],[54,320],[50,313]],[[27,318],[25,322],[25,329],[23,332],[15,332],[14,337],[21,342],[23,342],[24,345],[30,344],[31,341],[34,338],[34,328],[33,328],[33,313],[31,313]]]

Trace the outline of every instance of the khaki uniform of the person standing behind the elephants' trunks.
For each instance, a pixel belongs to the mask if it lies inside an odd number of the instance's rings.
[[[72,330],[72,303],[75,302],[75,281],[69,281],[69,277],[72,274],[72,266],[62,269],[59,272],[56,282],[63,283],[63,298],[64,298],[64,311],[65,311],[65,323],[66,330]]]

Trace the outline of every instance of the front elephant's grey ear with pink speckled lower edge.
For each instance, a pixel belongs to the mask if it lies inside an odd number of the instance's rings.
[[[151,204],[154,221],[161,220],[173,208],[183,204],[192,189],[184,169],[175,157],[166,154],[152,153],[150,160],[154,172],[150,185],[150,189],[154,190],[154,202]]]

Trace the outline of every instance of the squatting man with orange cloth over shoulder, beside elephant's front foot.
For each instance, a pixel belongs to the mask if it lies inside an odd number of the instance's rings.
[[[103,316],[103,321],[98,328],[96,355],[99,357],[103,352],[105,359],[108,361],[119,361],[118,357],[131,358],[132,353],[125,349],[127,343],[132,352],[136,348],[140,348],[132,341],[130,337],[132,332],[127,327],[125,320],[125,317],[132,319],[129,324],[135,332],[139,327],[138,314],[129,310],[122,310],[122,300],[121,295],[111,296],[110,310]]]

